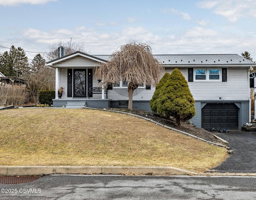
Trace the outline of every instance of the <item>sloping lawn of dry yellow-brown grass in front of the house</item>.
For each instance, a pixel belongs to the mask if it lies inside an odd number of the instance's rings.
[[[101,110],[2,110],[0,124],[0,165],[173,166],[204,172],[227,158],[225,148]]]

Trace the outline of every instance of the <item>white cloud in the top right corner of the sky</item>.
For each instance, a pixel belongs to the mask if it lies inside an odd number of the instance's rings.
[[[222,15],[230,22],[239,18],[256,17],[255,0],[207,0],[196,4],[199,8],[212,9],[212,12]]]

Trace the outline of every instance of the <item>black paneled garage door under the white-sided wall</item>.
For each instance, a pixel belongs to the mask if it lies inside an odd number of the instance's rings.
[[[206,104],[202,108],[202,128],[238,130],[238,108],[235,104]]]

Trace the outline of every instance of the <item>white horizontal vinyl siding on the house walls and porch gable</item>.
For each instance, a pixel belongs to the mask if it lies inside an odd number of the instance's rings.
[[[65,87],[65,92],[62,98],[67,98],[67,68],[76,69],[86,69],[93,68],[93,87],[98,87],[99,83],[95,77],[94,66],[96,61],[90,60],[88,58],[83,58],[82,56],[76,56],[70,58],[69,60],[55,64],[60,70],[60,86]],[[65,67],[65,68],[62,68]],[[202,67],[203,68],[203,67]],[[210,69],[210,68],[208,68]],[[221,78],[221,68],[220,69],[220,80]],[[172,68],[166,68],[166,72],[172,73]],[[188,81],[188,68],[179,69],[183,76]],[[227,82],[221,81],[194,81],[188,82],[190,91],[194,97],[194,100],[249,100],[249,78],[247,68],[227,68]],[[127,88],[123,90],[127,91]],[[142,89],[137,95],[133,96],[133,100],[150,100],[154,94],[155,87],[151,87],[151,90]],[[124,92],[118,90],[108,90],[108,99],[111,100],[128,100],[127,95],[122,95]],[[93,98],[101,98],[101,94],[94,94]]]

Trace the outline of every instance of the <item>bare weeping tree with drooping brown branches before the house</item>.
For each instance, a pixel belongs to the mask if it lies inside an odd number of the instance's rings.
[[[140,84],[156,86],[163,74],[164,66],[152,56],[150,46],[134,40],[120,46],[108,62],[96,66],[96,77],[102,84],[128,82],[129,110],[134,90]]]

